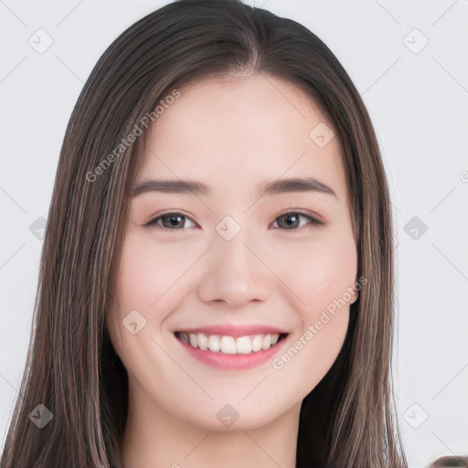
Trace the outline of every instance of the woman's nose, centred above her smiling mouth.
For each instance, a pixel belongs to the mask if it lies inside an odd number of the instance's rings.
[[[223,301],[243,307],[251,301],[265,301],[272,291],[273,273],[261,252],[239,234],[230,240],[215,239],[207,252],[207,264],[198,283],[198,297],[207,303]]]

